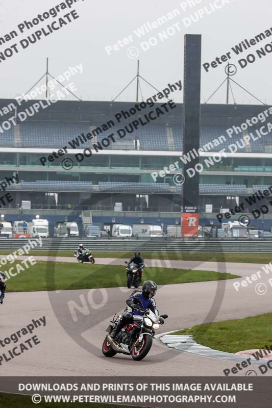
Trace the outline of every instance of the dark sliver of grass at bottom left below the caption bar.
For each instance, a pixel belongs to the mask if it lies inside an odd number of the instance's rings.
[[[13,395],[13,394],[0,394],[0,406],[1,408],[29,408],[30,406],[44,407],[58,407],[58,408],[68,408],[72,406],[73,408],[82,408],[83,406],[90,406],[92,408],[128,408],[128,406],[123,405],[107,405],[107,404],[97,404],[97,403],[84,403],[84,402],[58,402],[58,403],[45,403],[41,401],[39,404],[34,404],[31,400],[31,396],[26,395]]]

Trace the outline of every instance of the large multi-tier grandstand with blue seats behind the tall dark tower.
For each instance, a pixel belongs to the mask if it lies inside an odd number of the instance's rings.
[[[0,109],[12,102],[10,99],[1,99]],[[33,103],[23,103],[17,113]],[[173,180],[173,175],[180,172],[179,165],[182,165],[179,159],[183,137],[181,104],[177,104],[177,108],[168,115],[160,116],[156,121],[127,133],[123,139],[116,138],[116,143],[108,148],[93,151],[92,156],[82,162],[75,160],[75,154],[83,152],[85,148],[92,148],[93,143],[101,142],[107,135],[137,119],[136,115],[121,123],[116,123],[114,119],[116,112],[128,111],[134,105],[129,102],[58,101],[1,133],[0,178],[3,180],[11,174],[19,174],[19,184],[10,187],[12,194],[15,194],[10,208],[20,207],[22,200],[31,200],[33,209],[57,210],[69,206],[76,209],[77,214],[82,208],[94,211],[101,209],[97,217],[103,217],[103,211],[112,217],[115,203],[121,202],[122,211],[145,211],[149,217],[155,217],[155,223],[158,222],[157,213],[164,212],[169,214],[169,223],[175,223],[180,213],[182,194],[182,187]],[[139,116],[155,107],[147,107]],[[200,163],[204,164],[205,158],[213,152],[227,149],[230,143],[235,144],[248,133],[234,133],[229,138],[227,129],[233,125],[239,126],[264,109],[253,105],[202,105],[200,146],[212,143],[213,148],[201,155]],[[0,122],[13,115],[14,112],[10,112],[2,116]],[[98,126],[110,120],[115,120],[113,129],[106,133],[97,132]],[[264,124],[260,123],[260,126]],[[254,132],[255,129],[258,129],[257,125],[250,131]],[[92,140],[80,144],[75,150],[70,148],[69,141],[91,132],[94,135]],[[226,140],[214,146],[213,141],[221,135]],[[65,156],[53,162],[47,161],[45,166],[41,165],[39,159],[42,156],[47,157],[53,150],[57,151],[64,146],[69,149]],[[200,212],[205,213],[206,205],[213,206],[213,213],[220,211],[220,208],[232,208],[236,205],[235,197],[242,200],[258,189],[272,185],[271,151],[272,136],[267,134],[258,140],[250,140],[237,152],[222,157],[213,166],[204,166],[200,174]],[[72,158],[72,169],[62,167],[64,157]],[[154,181],[152,173],[175,162],[179,163],[175,171],[163,177],[158,176]],[[135,214],[134,221],[139,221],[139,217]]]

